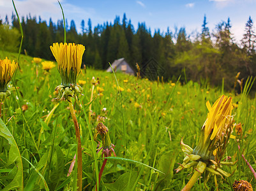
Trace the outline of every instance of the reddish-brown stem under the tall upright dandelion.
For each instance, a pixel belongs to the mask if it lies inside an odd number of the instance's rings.
[[[80,139],[79,123],[77,122],[77,117],[75,116],[75,110],[73,108],[73,103],[71,97],[68,97],[68,104],[70,106],[70,113],[75,125],[75,135],[77,136],[77,187],[79,191],[82,190],[82,146]]]

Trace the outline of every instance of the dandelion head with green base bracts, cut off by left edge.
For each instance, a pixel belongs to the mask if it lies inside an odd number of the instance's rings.
[[[8,88],[8,83],[11,81],[11,77],[17,69],[18,63],[14,60],[11,62],[7,57],[4,60],[0,59],[0,101],[3,103],[9,95],[11,95],[10,90],[13,88]]]

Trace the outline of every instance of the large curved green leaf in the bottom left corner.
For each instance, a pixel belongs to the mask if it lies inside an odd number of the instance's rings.
[[[11,190],[14,188],[19,188],[23,190],[23,167],[22,167],[22,159],[20,156],[19,148],[15,142],[15,139],[11,135],[9,129],[4,125],[3,120],[0,118],[0,136],[7,139],[8,144],[10,145],[9,157],[6,166],[10,166],[11,164],[15,164],[13,169],[17,168],[17,173],[15,174],[13,180],[4,187],[3,191]]]

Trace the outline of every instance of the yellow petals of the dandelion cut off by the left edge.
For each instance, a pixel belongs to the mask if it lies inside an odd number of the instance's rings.
[[[7,57],[4,60],[0,59],[0,92],[8,90],[7,84],[11,81],[11,77],[17,69],[18,63],[14,60],[9,60]]]

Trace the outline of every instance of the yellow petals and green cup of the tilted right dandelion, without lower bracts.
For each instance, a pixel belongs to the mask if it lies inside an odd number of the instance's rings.
[[[232,132],[232,97],[227,98],[222,95],[213,106],[209,101],[206,106],[209,113],[201,129],[199,144],[193,150],[193,154],[200,155],[203,160],[217,157],[216,162],[220,162]]]

